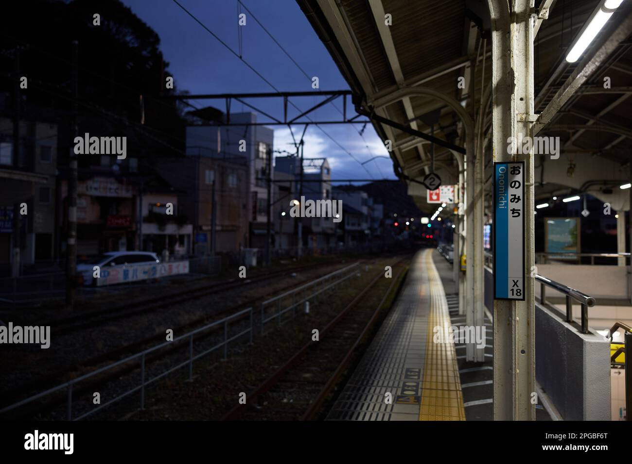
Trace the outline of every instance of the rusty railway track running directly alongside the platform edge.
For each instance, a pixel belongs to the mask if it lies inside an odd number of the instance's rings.
[[[384,301],[400,282],[399,277],[405,271],[402,261],[404,259],[396,263],[399,273],[375,309],[360,303],[374,289],[375,283],[384,278],[383,271],[320,331],[319,342],[303,345],[247,396],[248,404],[237,405],[222,420],[315,419],[379,319]],[[359,325],[358,321],[368,322]],[[289,400],[288,396],[293,398]]]

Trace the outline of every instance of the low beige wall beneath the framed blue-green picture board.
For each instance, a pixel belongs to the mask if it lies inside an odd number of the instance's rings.
[[[602,299],[625,299],[629,295],[628,266],[590,266],[566,264],[539,264],[538,274]],[[547,287],[547,296],[562,294]],[[535,283],[535,294],[540,295],[540,285]]]

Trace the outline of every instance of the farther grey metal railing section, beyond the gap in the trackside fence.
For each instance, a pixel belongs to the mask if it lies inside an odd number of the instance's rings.
[[[296,309],[301,305],[308,303],[310,300],[314,302],[316,299],[322,299],[324,292],[333,290],[337,285],[345,282],[355,275],[358,270],[358,264],[337,270],[323,277],[305,283],[296,289],[289,290],[274,298],[270,298],[262,302],[261,309],[261,334],[265,333],[265,324],[276,319],[277,325],[283,324],[286,319],[293,319],[296,316]],[[272,311],[270,311],[272,309]],[[285,316],[291,311],[291,317]],[[272,312],[272,315],[269,313]]]

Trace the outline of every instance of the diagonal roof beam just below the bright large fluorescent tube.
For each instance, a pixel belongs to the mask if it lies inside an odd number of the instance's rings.
[[[581,87],[592,74],[599,69],[599,66],[610,56],[623,40],[627,39],[632,30],[632,9],[629,5],[623,4],[621,8],[628,6],[626,11],[621,11],[622,19],[614,28],[610,37],[601,42],[598,46],[593,46],[591,51],[575,68],[573,73],[562,85],[550,103],[542,111],[538,120],[533,124],[533,134],[537,134],[549,124],[556,113],[573,97],[574,93]],[[614,15],[613,15],[614,16]],[[614,16],[616,18],[616,16]]]

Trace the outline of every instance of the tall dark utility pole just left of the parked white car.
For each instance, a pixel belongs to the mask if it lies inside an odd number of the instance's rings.
[[[78,136],[78,42],[73,40],[73,64],[72,64],[72,91],[73,91],[73,117],[72,140]],[[68,172],[68,238],[66,240],[66,307],[73,309],[75,306],[75,275],[77,259],[77,155],[71,143]]]

